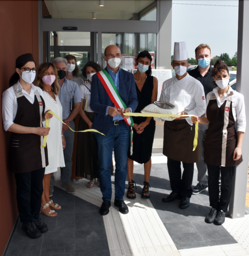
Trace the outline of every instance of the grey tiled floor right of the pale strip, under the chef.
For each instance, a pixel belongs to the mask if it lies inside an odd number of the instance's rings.
[[[134,165],[133,180],[137,182],[137,196],[143,188],[144,171],[142,165]],[[193,185],[197,184],[197,170],[194,172]],[[165,225],[178,250],[212,245],[237,243],[223,226],[215,226],[204,222],[209,213],[208,191],[192,195],[190,207],[180,209],[180,200],[163,203],[162,198],[171,193],[170,181],[166,163],[152,164],[151,202]],[[128,185],[126,185],[128,188]]]

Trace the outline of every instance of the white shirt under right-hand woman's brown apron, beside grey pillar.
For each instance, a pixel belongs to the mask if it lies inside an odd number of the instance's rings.
[[[228,95],[232,92],[233,93],[233,100],[232,100],[232,113],[233,118],[235,121],[235,128],[236,131],[246,131],[246,108],[244,102],[244,96],[241,93],[238,93],[229,86],[229,89],[226,94],[223,95],[222,99],[219,99],[218,94],[219,87],[214,88],[213,92],[210,92],[206,95],[206,107],[208,107],[209,100],[211,98],[212,93],[215,94],[217,98],[217,105],[220,108],[222,104],[227,99]]]

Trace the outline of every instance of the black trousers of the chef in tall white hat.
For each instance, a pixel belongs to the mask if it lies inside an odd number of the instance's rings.
[[[181,173],[181,162],[168,158],[168,175],[173,192],[191,198],[194,163],[182,163],[184,171]]]

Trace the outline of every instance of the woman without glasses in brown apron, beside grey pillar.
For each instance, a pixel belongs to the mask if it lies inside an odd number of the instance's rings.
[[[230,75],[223,61],[215,63],[212,76],[218,87],[206,96],[206,117],[192,117],[192,122],[209,124],[203,145],[212,209],[205,222],[222,225],[231,198],[234,171],[242,162],[246,114],[244,97],[229,86]],[[219,175],[222,182],[220,199]]]

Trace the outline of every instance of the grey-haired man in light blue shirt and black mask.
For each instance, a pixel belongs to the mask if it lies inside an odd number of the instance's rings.
[[[57,68],[60,85],[59,99],[62,104],[63,112],[62,118],[63,122],[70,126],[73,130],[74,118],[79,112],[79,107],[81,106],[81,94],[79,92],[79,86],[73,81],[65,79],[65,74],[67,74],[67,60],[65,58],[55,58],[53,64]],[[75,193],[75,189],[70,183],[72,176],[72,156],[73,156],[73,143],[74,143],[74,132],[68,129],[68,126],[63,124],[62,127],[62,137],[65,137],[66,147],[63,151],[65,167],[62,168],[62,186],[68,193]],[[54,176],[51,175],[50,188],[54,186]],[[53,190],[52,190],[53,191]]]

